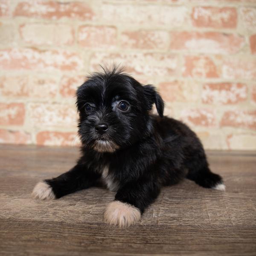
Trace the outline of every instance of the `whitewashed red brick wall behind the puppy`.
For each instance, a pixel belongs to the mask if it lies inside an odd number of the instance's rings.
[[[208,149],[255,149],[255,0],[1,0],[1,142],[77,145],[99,64],[157,86]]]

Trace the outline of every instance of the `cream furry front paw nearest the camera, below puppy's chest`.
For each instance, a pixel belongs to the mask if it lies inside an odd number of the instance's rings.
[[[140,210],[133,205],[113,201],[108,205],[104,218],[113,226],[129,227],[140,220],[140,215]]]

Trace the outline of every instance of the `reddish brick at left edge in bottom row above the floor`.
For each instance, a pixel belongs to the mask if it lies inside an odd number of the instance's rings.
[[[0,143],[30,144],[31,135],[25,131],[0,130]]]

